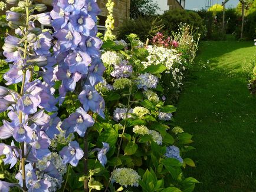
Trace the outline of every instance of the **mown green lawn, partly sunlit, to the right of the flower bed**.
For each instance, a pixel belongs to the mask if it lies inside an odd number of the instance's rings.
[[[202,182],[195,191],[256,191],[256,98],[242,69],[254,54],[253,42],[200,45],[175,114],[193,134],[196,150],[186,155],[196,168],[186,174]]]

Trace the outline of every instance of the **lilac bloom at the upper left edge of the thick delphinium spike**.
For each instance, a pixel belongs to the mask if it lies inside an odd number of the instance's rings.
[[[60,28],[64,28],[65,25],[67,25],[68,18],[70,16],[69,12],[65,12],[63,9],[60,8],[60,6],[54,6],[51,13],[52,21],[52,27],[55,31],[57,31]]]

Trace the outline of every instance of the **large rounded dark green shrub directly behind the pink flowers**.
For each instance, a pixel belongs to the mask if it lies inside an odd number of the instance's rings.
[[[161,15],[160,18],[165,25],[163,30],[168,32],[169,35],[172,34],[172,31],[178,31],[180,23],[193,26],[193,30],[195,32],[198,32],[202,35],[205,34],[202,18],[194,11],[173,9],[171,11],[165,12],[165,14]]]

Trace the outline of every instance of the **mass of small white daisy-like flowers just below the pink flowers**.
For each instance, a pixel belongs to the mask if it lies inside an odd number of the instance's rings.
[[[170,84],[179,88],[182,85],[180,81],[183,79],[182,71],[185,71],[185,67],[178,52],[175,49],[157,47],[155,45],[149,45],[147,51],[149,51],[149,56],[147,57],[147,62],[143,62],[144,67],[159,64],[165,65],[167,68],[166,73],[172,74],[173,77],[173,82],[170,82]]]

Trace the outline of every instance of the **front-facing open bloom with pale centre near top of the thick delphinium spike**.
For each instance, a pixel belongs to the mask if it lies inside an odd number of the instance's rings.
[[[96,24],[86,12],[86,9],[73,12],[73,14],[70,15],[70,23],[77,32],[81,32],[83,35],[90,35],[90,30],[93,29]]]

